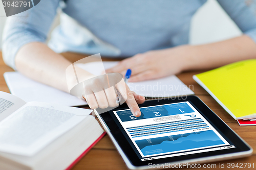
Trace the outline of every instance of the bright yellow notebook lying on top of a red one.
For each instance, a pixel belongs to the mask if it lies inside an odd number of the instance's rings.
[[[193,79],[234,119],[256,117],[256,59],[228,64]]]

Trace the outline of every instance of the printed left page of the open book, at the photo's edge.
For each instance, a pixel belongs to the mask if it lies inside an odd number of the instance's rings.
[[[0,122],[25,104],[17,96],[0,91]]]

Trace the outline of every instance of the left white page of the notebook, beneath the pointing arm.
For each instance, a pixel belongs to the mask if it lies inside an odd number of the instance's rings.
[[[5,72],[4,77],[11,93],[25,102],[47,102],[65,106],[87,105],[86,101],[76,96],[36,82],[19,72]]]

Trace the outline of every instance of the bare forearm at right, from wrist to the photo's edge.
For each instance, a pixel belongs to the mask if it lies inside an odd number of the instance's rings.
[[[246,35],[216,43],[192,45],[190,48],[184,70],[216,68],[256,58],[256,43]]]

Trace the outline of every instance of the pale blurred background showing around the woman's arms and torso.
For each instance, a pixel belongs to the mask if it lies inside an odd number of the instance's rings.
[[[0,3],[0,50],[2,48],[2,33],[6,21],[6,17],[1,15],[3,12],[4,8],[2,3]],[[59,11],[55,17],[49,35],[51,35],[51,31],[58,25],[60,13]],[[218,2],[216,0],[208,0],[193,17],[190,27],[189,43],[203,44],[216,42],[241,34],[240,29],[229,18]]]

